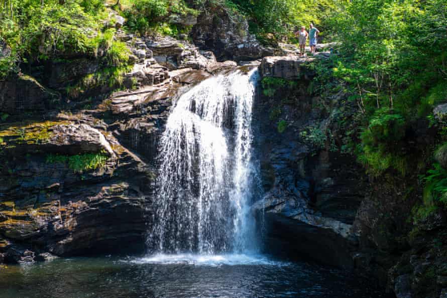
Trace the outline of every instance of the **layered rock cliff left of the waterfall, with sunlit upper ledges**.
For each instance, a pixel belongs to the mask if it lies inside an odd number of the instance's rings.
[[[115,38],[132,52],[125,90],[85,84],[101,68],[91,57],[0,81],[0,262],[144,251],[173,100],[237,66],[174,38]]]

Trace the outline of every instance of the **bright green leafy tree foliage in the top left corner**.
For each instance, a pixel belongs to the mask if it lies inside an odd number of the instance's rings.
[[[58,53],[88,52],[88,41],[100,29],[99,20],[104,16],[99,14],[102,6],[87,3],[85,0],[63,4],[56,0],[17,1],[12,17],[6,21],[17,31],[2,25],[0,33],[8,31],[7,43],[22,57],[48,59]]]

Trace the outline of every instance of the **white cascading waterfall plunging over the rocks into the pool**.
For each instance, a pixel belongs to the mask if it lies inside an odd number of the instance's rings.
[[[209,78],[175,104],[160,140],[150,247],[162,253],[245,252],[256,246],[249,211],[257,70]]]

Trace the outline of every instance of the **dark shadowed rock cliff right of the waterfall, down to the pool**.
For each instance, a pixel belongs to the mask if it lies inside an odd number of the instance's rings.
[[[414,221],[423,193],[417,175],[367,175],[344,151],[357,107],[343,92],[311,91],[312,60],[265,57],[260,65],[257,147],[265,202],[254,207],[265,213],[266,248],[374,276],[391,296],[443,297],[445,214]],[[436,135],[420,121],[406,131],[405,152],[415,165],[424,163]],[[442,150],[435,156],[441,165],[443,156]]]

